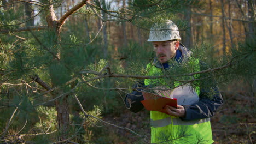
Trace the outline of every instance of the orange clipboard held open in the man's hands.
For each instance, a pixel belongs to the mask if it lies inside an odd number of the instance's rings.
[[[141,103],[144,105],[146,110],[160,111],[162,113],[168,114],[164,109],[166,105],[170,105],[177,108],[177,99],[175,98],[166,98],[149,92],[142,92],[142,94],[144,100],[142,100]]]

